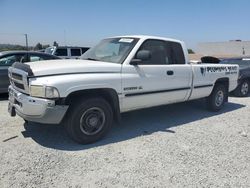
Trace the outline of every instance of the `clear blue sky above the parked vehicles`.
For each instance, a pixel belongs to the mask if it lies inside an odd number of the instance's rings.
[[[93,46],[117,35],[250,40],[250,0],[0,0],[0,43]]]

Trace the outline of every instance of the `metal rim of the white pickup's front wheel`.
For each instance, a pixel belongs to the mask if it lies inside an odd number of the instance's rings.
[[[102,130],[105,120],[105,113],[101,108],[89,108],[80,118],[80,129],[86,135],[97,134]]]

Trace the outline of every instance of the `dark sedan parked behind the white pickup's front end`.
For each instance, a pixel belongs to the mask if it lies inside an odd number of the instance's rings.
[[[9,86],[8,68],[15,62],[33,62],[40,60],[61,59],[57,56],[34,51],[0,52],[0,93],[7,93]]]

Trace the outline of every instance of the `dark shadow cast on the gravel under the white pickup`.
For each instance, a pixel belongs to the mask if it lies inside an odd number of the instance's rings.
[[[171,130],[173,127],[228,113],[242,107],[244,105],[228,103],[220,112],[209,112],[206,110],[204,102],[197,100],[128,112],[122,114],[121,124],[115,124],[106,137],[89,145],[80,145],[73,142],[60,125],[42,125],[38,123],[29,123],[27,125],[25,123],[23,135],[24,137],[31,137],[38,144],[48,148],[67,151],[85,150],[126,141],[138,136],[150,135],[159,131],[166,134],[175,134],[175,131]]]

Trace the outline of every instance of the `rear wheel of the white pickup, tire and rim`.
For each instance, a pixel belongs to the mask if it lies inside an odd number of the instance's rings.
[[[227,101],[227,90],[223,84],[216,84],[210,96],[207,98],[207,107],[210,111],[217,112],[224,107]]]

